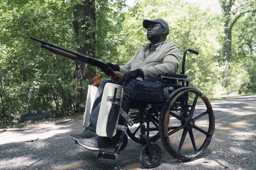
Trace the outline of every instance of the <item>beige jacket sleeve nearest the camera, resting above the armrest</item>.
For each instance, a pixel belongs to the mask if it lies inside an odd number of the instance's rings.
[[[165,75],[168,73],[176,73],[180,66],[180,49],[177,44],[171,43],[166,49],[164,59],[161,64],[142,68],[144,72],[144,78],[147,81],[159,80],[159,75]]]

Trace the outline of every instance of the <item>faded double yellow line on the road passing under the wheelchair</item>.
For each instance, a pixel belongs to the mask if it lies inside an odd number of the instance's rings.
[[[224,117],[221,117],[221,118],[219,118],[219,119],[216,119],[215,122],[216,122],[216,121],[223,120],[223,119],[227,119],[227,118],[232,117],[232,116],[235,116],[235,115],[237,115],[237,114],[239,114],[239,113],[247,112],[247,111],[254,110],[254,109],[256,109],[256,107],[251,108],[251,109],[247,109],[247,110],[244,110],[244,111],[240,111],[240,112],[238,112],[238,113],[232,113],[232,114],[230,114],[230,115],[228,115],[228,116],[224,116]],[[249,121],[252,121],[252,120],[254,120],[254,119],[256,119],[256,115],[251,116],[251,117],[249,117],[249,118],[247,118],[247,119],[245,119],[245,120],[242,120],[242,121],[233,123],[232,125],[230,125],[230,126],[228,126],[228,127],[225,127],[225,128],[223,128],[223,129],[221,129],[221,130],[218,130],[218,131],[215,131],[214,134],[217,133],[217,135],[214,135],[214,136],[218,136],[218,135],[224,134],[224,133],[226,133],[228,130],[231,130],[231,129],[236,128],[236,127],[241,126],[241,125],[244,125],[245,123],[247,123],[247,122],[249,122]],[[200,126],[200,125],[198,125],[198,126]],[[226,131],[225,131],[225,130],[226,130]],[[204,139],[205,139],[205,137],[199,138],[199,139],[197,139],[195,142],[201,142],[201,141],[204,141]],[[160,139],[159,139],[159,140],[160,140]],[[158,140],[158,141],[159,141],[159,140]],[[133,146],[131,146],[131,147],[129,147],[129,148],[126,148],[126,149],[123,150],[123,151],[120,151],[120,154],[121,154],[121,153],[128,152],[128,151],[131,151],[131,150],[134,150],[134,149],[138,149],[138,148],[140,148],[141,146],[142,146],[141,144],[133,145]],[[190,146],[192,146],[190,143],[184,145],[185,148],[190,147]],[[168,158],[170,158],[170,157],[171,157],[171,156],[170,156],[168,153],[167,153],[167,154],[164,154],[164,155],[162,155],[162,160],[163,160],[163,159],[168,159]],[[75,167],[78,167],[78,166],[82,166],[82,165],[84,165],[84,164],[88,164],[88,163],[91,163],[91,162],[96,162],[96,161],[101,160],[101,159],[102,159],[102,158],[98,158],[98,157],[88,158],[88,159],[85,159],[85,160],[82,160],[82,161],[78,161],[78,162],[74,162],[74,163],[71,163],[71,164],[68,164],[68,165],[65,165],[65,166],[53,168],[53,169],[51,169],[51,170],[67,170],[67,169],[75,168]],[[141,165],[141,163],[135,163],[135,164],[132,164],[132,165],[130,165],[130,166],[128,166],[128,167],[122,168],[122,169],[120,169],[120,170],[126,170],[126,169],[128,170],[128,169],[134,169],[134,168],[135,168],[135,169],[141,169],[141,168],[144,168],[144,167]],[[135,169],[134,169],[134,170],[135,170]]]

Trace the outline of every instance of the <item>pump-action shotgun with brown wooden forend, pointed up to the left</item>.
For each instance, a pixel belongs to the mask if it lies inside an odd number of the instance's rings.
[[[57,45],[39,40],[35,37],[30,36],[29,38],[31,40],[34,40],[36,42],[41,43],[40,47],[50,51],[50,53],[56,54],[56,55],[61,56],[61,57],[65,57],[65,58],[70,59],[70,60],[78,60],[78,61],[90,64],[92,66],[95,66],[95,67],[99,68],[101,71],[104,71],[104,70],[109,68],[108,66],[106,66],[106,63],[104,63],[103,61],[97,60],[95,58],[85,56],[85,55],[76,53],[74,51],[70,51],[68,49],[59,47]],[[110,77],[113,81],[118,81],[122,75],[123,75],[123,73],[113,71],[113,74]],[[94,79],[93,79],[93,85],[94,86],[99,85],[100,78],[101,78],[101,76],[100,77],[96,76],[96,77],[94,77]]]

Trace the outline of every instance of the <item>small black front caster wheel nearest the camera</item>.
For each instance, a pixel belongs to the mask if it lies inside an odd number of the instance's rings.
[[[153,151],[155,153],[155,157],[152,158],[150,155],[149,149],[147,144],[145,144],[141,148],[141,153],[140,153],[140,162],[145,168],[154,168],[156,167],[159,162],[161,161],[162,158],[162,151],[161,148],[154,142],[151,142]]]

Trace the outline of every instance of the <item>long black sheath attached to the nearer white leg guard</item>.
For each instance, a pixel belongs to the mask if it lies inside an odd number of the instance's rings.
[[[109,111],[108,116],[108,123],[106,126],[106,134],[108,137],[112,138],[115,124],[119,115],[120,105],[119,104],[112,104],[111,109]]]

